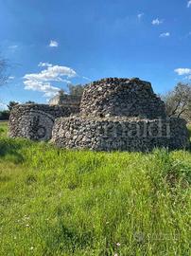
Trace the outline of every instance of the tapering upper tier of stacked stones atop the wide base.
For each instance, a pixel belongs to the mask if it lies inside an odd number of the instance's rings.
[[[102,79],[86,86],[80,103],[85,117],[165,118],[165,103],[151,83],[135,79]]]

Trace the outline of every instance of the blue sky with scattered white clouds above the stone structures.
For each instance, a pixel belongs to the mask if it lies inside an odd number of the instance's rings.
[[[163,94],[191,79],[190,51],[188,0],[0,0],[10,64],[0,107],[105,77],[139,77]]]

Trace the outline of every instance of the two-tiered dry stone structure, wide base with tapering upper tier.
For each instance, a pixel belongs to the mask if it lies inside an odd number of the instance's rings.
[[[59,147],[96,151],[184,149],[183,119],[168,119],[165,103],[149,82],[109,78],[86,86],[77,116],[56,119],[52,140]]]

